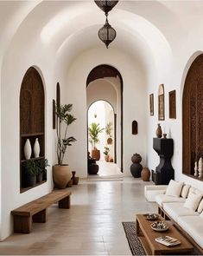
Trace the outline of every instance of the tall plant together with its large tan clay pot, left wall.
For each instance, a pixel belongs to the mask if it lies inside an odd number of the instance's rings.
[[[56,121],[56,135],[57,135],[57,165],[53,167],[53,179],[55,187],[65,188],[67,187],[68,181],[71,180],[72,171],[67,164],[63,163],[65,153],[67,151],[67,146],[72,146],[72,143],[76,141],[73,136],[68,136],[67,128],[69,125],[76,120],[76,118],[71,115],[73,104],[60,105],[55,108],[55,115],[57,117]]]

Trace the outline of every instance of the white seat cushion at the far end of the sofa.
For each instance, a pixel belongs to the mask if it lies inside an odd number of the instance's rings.
[[[179,216],[200,216],[199,213],[193,212],[191,209],[183,207],[183,202],[164,203],[163,209],[168,213],[169,217],[177,222]]]

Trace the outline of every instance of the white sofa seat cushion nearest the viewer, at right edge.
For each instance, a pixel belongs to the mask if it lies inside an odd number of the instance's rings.
[[[203,248],[203,220],[200,214],[199,216],[180,216],[177,223]]]

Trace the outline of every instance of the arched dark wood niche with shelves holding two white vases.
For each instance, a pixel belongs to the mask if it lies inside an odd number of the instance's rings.
[[[22,79],[20,93],[20,191],[25,192],[28,189],[41,185],[47,181],[47,174],[44,173],[42,181],[38,181],[35,185],[30,186],[28,183],[28,175],[25,170],[25,162],[40,161],[45,159],[45,134],[44,134],[44,88],[41,75],[38,71],[30,67]],[[24,154],[25,142],[29,139],[31,144],[31,155],[26,159]],[[38,139],[40,146],[40,154],[35,157],[34,145]],[[28,157],[27,157],[28,158]]]

